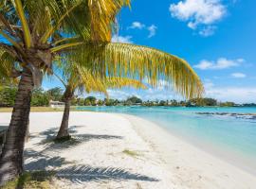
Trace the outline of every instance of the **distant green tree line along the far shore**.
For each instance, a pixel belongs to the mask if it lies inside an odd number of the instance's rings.
[[[0,88],[0,107],[12,107],[14,105],[15,95],[17,93],[16,86],[2,87]],[[49,90],[42,88],[33,90],[31,106],[42,107],[49,106],[50,100],[63,101],[64,91],[59,87],[55,87]],[[76,96],[71,101],[72,106],[170,106],[170,107],[255,107],[255,103],[247,103],[237,105],[234,102],[218,102],[214,98],[194,98],[187,101],[177,100],[146,100],[142,101],[137,96],[128,97],[125,100],[119,99],[97,99],[94,96],[88,96],[85,98]]]

